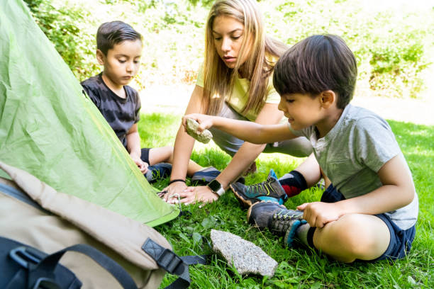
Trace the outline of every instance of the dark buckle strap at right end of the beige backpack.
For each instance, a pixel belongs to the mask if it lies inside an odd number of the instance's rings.
[[[206,264],[206,255],[179,257],[172,250],[160,246],[150,238],[146,239],[142,249],[157,262],[158,266],[168,273],[179,276],[166,289],[188,288],[191,283],[189,265]]]

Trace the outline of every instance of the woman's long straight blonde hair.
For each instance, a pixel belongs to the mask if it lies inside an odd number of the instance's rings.
[[[230,69],[218,56],[213,42],[213,22],[217,16],[235,18],[244,25],[244,37],[241,43],[235,68]],[[252,45],[249,49],[247,45]],[[233,92],[238,69],[244,65],[243,75],[250,80],[248,98],[243,112],[251,109],[258,113],[265,104],[269,77],[277,58],[287,49],[282,42],[273,40],[265,35],[262,16],[255,0],[218,0],[211,7],[206,21],[205,33],[205,62],[204,62],[204,97],[202,105],[207,108],[206,113],[216,115],[221,111],[225,96]],[[244,54],[248,52],[247,60],[243,64]]]

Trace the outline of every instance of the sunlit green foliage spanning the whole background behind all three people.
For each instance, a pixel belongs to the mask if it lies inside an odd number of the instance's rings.
[[[78,79],[101,69],[94,57],[96,29],[116,19],[144,36],[143,64],[135,78],[138,89],[194,83],[203,61],[204,26],[212,0],[93,0],[86,2],[86,9],[80,1],[84,0],[26,0]],[[369,3],[259,1],[267,33],[288,45],[313,34],[340,35],[357,58],[356,94],[417,97],[425,88],[423,76],[434,55],[434,10],[397,5],[385,10]]]

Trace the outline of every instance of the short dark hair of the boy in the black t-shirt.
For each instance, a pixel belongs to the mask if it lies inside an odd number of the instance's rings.
[[[125,40],[142,40],[142,35],[134,30],[127,23],[122,21],[111,21],[102,23],[96,32],[96,48],[104,55],[113,48],[115,44]]]

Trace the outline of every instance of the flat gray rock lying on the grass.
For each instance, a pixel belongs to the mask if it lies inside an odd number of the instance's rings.
[[[213,250],[221,254],[240,275],[274,276],[278,263],[252,242],[229,232],[211,229]]]

